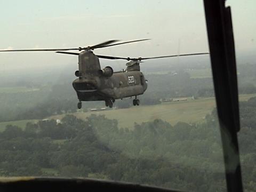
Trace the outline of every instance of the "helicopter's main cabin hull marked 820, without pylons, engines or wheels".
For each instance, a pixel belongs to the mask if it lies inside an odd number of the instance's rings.
[[[73,87],[80,101],[107,101],[143,94],[147,82],[141,71],[117,71],[110,77],[79,77]]]

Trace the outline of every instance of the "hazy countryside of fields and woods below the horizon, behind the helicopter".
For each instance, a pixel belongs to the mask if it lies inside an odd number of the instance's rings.
[[[238,65],[239,147],[247,191],[256,190],[255,64]],[[111,109],[100,101],[77,109],[70,70],[58,78],[48,75],[1,81],[1,177],[85,177],[225,191],[210,65],[155,73],[149,67],[141,105],[126,98]]]

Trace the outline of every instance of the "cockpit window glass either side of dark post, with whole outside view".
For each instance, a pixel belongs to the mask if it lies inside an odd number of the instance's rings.
[[[255,3],[233,4],[243,179],[253,191]],[[0,177],[226,190],[203,1],[0,7]]]

